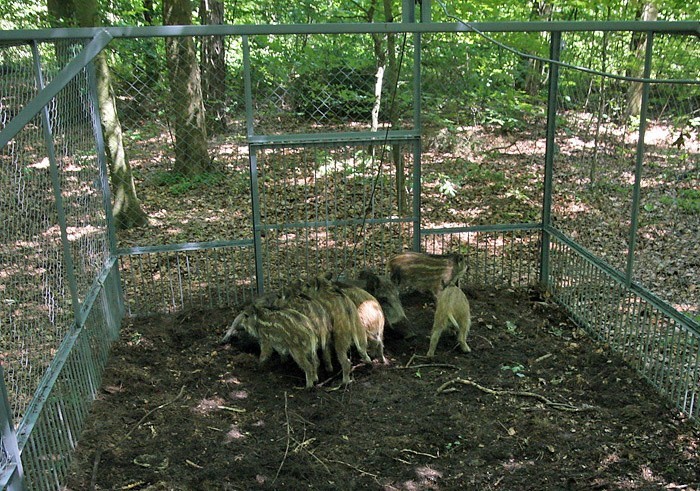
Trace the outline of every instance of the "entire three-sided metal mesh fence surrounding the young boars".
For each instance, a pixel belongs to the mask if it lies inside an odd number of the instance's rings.
[[[124,312],[403,249],[545,288],[698,415],[690,36],[229,27],[0,45],[0,360],[33,487],[60,486]]]

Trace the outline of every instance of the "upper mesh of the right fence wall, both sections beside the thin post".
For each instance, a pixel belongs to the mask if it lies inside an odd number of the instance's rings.
[[[566,42],[591,46],[587,60],[566,59],[620,76],[641,76],[639,33],[567,34]],[[684,56],[688,38],[657,36],[651,75],[683,79],[698,73]],[[613,67],[606,53],[630,51],[634,61]],[[616,73],[618,72],[618,73]],[[642,83],[561,69],[560,114],[555,157],[553,222],[620,272],[631,261],[632,279],[680,311],[697,316],[697,196],[699,184],[697,84],[652,83],[644,153],[638,154]],[[641,174],[637,161],[641,158]],[[634,208],[635,185],[640,200]],[[639,215],[637,215],[639,213]],[[633,220],[635,220],[633,222]],[[636,227],[633,229],[633,227]],[[679,247],[683,253],[679,253]],[[690,248],[690,249],[688,249]],[[633,257],[628,255],[633,253]],[[671,300],[673,299],[673,300]]]

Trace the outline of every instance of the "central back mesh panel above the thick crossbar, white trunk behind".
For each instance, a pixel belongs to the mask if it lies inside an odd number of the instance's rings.
[[[410,35],[255,36],[250,46],[256,134],[412,127]]]

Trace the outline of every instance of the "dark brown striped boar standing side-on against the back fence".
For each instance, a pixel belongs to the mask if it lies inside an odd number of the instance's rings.
[[[445,285],[456,285],[466,270],[461,254],[402,252],[387,263],[387,274],[400,289],[432,293],[435,298]]]

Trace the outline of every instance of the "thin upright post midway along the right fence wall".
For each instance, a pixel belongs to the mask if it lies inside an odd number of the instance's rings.
[[[651,58],[654,33],[647,33],[647,46],[644,57],[644,78],[651,75]],[[627,249],[627,268],[625,270],[625,285],[629,288],[634,274],[634,250],[637,245],[637,228],[639,227],[639,202],[641,200],[642,167],[644,165],[644,135],[647,125],[647,109],[649,107],[649,83],[642,83],[642,107],[639,112],[639,136],[634,168],[634,187],[632,188],[632,217],[630,222],[630,238]]]

